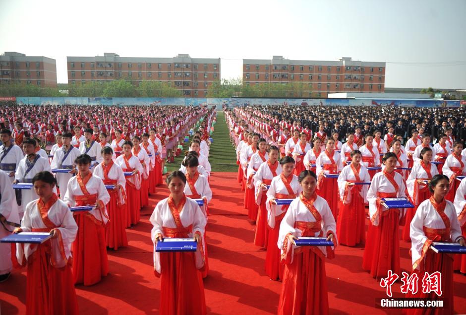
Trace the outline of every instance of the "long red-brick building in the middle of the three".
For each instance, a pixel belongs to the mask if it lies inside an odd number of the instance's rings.
[[[174,58],[119,57],[105,53],[96,57],[66,57],[68,83],[105,82],[128,79],[167,82],[183,91],[186,97],[206,97],[209,86],[220,80],[220,58],[191,58],[179,54]]]

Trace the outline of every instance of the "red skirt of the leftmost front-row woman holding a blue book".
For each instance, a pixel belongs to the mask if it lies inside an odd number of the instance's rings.
[[[26,314],[79,314],[70,263],[55,268],[50,254],[50,241],[46,241],[28,258]]]

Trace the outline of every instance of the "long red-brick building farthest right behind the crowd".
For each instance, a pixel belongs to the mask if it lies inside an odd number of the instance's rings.
[[[274,56],[272,60],[243,59],[243,82],[298,83],[302,95],[295,97],[327,97],[329,93],[376,92],[385,90],[385,63],[353,61],[288,60]]]

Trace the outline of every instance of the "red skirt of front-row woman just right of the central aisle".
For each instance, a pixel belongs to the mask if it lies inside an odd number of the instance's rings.
[[[285,265],[278,314],[329,314],[325,263],[310,249],[303,248]]]

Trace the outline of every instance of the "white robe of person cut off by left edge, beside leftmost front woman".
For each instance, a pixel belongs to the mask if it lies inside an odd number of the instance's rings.
[[[19,226],[18,205],[8,174],[0,170],[0,217],[6,222],[0,223],[0,239],[7,237]],[[0,275],[11,271],[11,244],[0,243]]]

